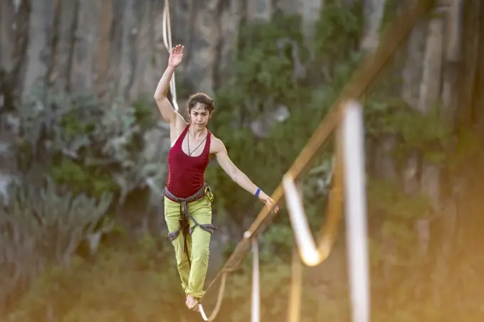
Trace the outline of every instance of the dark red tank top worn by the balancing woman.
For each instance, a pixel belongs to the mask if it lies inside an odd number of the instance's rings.
[[[207,130],[204,151],[199,156],[189,156],[181,149],[189,127],[190,125],[185,127],[168,153],[167,189],[178,198],[188,198],[201,188],[205,183],[206,167],[209,165],[210,131]]]

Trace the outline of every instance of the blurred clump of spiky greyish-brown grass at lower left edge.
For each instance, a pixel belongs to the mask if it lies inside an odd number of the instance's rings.
[[[12,186],[6,208],[0,208],[0,278],[9,281],[0,302],[10,292],[28,288],[43,267],[68,265],[88,235],[110,230],[112,222],[103,215],[111,198],[104,193],[98,202],[82,194],[60,193],[52,180],[41,190]]]

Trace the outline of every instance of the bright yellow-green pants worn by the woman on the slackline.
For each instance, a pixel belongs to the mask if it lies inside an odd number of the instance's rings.
[[[206,196],[188,204],[188,211],[199,224],[211,224],[211,202]],[[180,205],[167,197],[164,197],[164,220],[167,222],[169,232],[176,231],[179,227]],[[191,218],[188,218],[190,227],[194,226]],[[204,295],[204,283],[206,272],[209,267],[210,255],[210,232],[195,227],[191,236],[187,238],[190,262],[184,252],[183,232],[172,242],[177,257],[178,272],[181,278],[181,287],[187,295],[200,298]]]

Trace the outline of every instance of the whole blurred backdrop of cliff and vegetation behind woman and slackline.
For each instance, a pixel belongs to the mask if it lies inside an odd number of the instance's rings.
[[[91,2],[0,4],[1,27],[22,27],[4,28],[11,43],[0,49],[0,321],[191,321],[198,313],[184,307],[159,197],[169,135],[151,95],[167,58],[157,25],[162,4]],[[289,0],[173,2],[174,43],[189,53],[177,71],[181,109],[191,92],[213,95],[209,129],[270,193],[411,1],[308,1],[315,9],[302,14]],[[110,23],[99,23],[106,12]],[[194,12],[212,21],[199,26],[207,22]],[[68,25],[70,15],[77,27]],[[231,18],[235,36],[221,36]],[[372,321],[484,316],[480,18],[479,0],[439,4],[362,97]],[[38,35],[36,26],[51,29]],[[198,58],[202,50],[215,50],[208,63]],[[330,137],[300,181],[314,232],[325,220],[333,152]],[[220,227],[210,281],[262,205],[215,161],[206,180]],[[263,321],[285,319],[293,242],[283,207],[261,236]],[[301,321],[349,321],[344,244],[342,225],[330,259],[305,269]],[[219,321],[248,321],[249,259],[228,279]],[[207,311],[215,297],[204,302]]]

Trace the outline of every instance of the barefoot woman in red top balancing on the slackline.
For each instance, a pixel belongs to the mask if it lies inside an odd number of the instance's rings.
[[[172,48],[154,100],[170,129],[167,183],[163,190],[164,219],[177,258],[181,287],[186,294],[185,304],[197,310],[198,300],[204,296],[211,233],[216,229],[211,224],[213,194],[205,182],[210,157],[216,156],[223,171],[268,208],[278,212],[278,206],[232,163],[221,139],[207,129],[215,110],[214,100],[209,95],[199,92],[189,97],[189,122],[173,109],[167,92],[183,55],[183,45]]]

